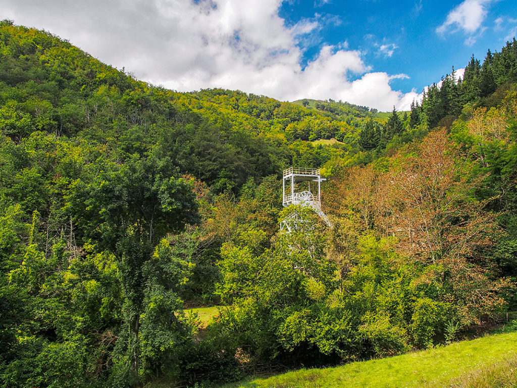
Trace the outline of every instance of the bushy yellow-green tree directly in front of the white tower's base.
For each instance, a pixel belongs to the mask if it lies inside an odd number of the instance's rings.
[[[221,310],[217,329],[258,359],[296,350],[296,360],[310,344],[332,352],[316,327],[324,315],[319,307],[335,287],[334,263],[324,255],[314,212],[293,206],[280,220],[293,216],[292,231],[279,232],[270,249],[264,248],[266,234],[260,230],[246,231],[239,245],[229,242],[221,248],[218,292],[232,305]]]

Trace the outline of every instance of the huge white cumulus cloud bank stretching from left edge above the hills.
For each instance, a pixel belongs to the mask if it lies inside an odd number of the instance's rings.
[[[416,93],[393,91],[393,76],[369,72],[361,53],[345,42],[324,45],[302,67],[299,42],[320,22],[286,26],[281,2],[0,0],[0,8],[17,24],[47,29],[103,62],[177,91],[224,87],[280,100],[332,98],[408,109]],[[385,54],[395,48],[388,45]]]

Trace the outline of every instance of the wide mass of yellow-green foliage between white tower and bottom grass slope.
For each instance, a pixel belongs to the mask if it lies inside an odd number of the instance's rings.
[[[340,285],[317,248],[316,224],[304,218],[310,213],[289,209],[283,219],[293,211],[305,221],[280,234],[271,250],[257,254],[249,246],[223,246],[219,292],[223,301],[233,302],[216,324],[223,335],[254,357],[266,353],[278,359],[285,351],[317,349],[320,357],[354,360],[437,341],[450,319],[449,306],[430,298],[432,288],[416,287],[418,266],[403,264],[389,241],[366,235]]]

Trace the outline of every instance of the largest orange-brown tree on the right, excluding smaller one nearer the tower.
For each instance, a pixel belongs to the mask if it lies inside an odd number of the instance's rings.
[[[480,179],[468,176],[472,162],[462,160],[445,130],[430,133],[415,151],[399,154],[384,175],[376,228],[396,236],[405,257],[428,266],[462,324],[476,322],[504,305],[500,291],[508,283],[493,280],[489,253],[503,232],[485,202],[473,198]]]

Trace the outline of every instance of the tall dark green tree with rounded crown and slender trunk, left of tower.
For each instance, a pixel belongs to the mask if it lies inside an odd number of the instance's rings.
[[[72,207],[81,209],[76,222],[85,238],[99,241],[118,260],[125,294],[126,341],[119,341],[121,384],[138,381],[140,325],[144,312],[144,267],[159,241],[186,223],[197,222],[197,204],[184,178],[160,170],[157,160],[133,156],[122,166],[100,174],[89,185],[76,184]],[[129,372],[129,375],[127,374]]]

